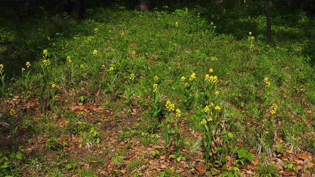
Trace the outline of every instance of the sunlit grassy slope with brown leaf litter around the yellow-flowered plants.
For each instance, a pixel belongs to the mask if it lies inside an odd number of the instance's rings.
[[[27,170],[23,169],[21,173],[107,175],[120,169],[119,175],[128,175],[146,165],[146,168],[140,169],[142,172],[157,174],[166,170],[163,165],[167,165],[181,174],[187,173],[188,170],[192,175],[200,174],[200,171],[188,165],[199,167],[202,164],[198,162],[203,159],[203,150],[198,148],[198,139],[202,136],[199,124],[201,119],[197,116],[196,120],[196,112],[198,108],[205,106],[202,89],[204,75],[208,73],[209,68],[213,68],[213,75],[219,78],[217,87],[220,94],[215,103],[225,105],[227,110],[230,131],[234,134],[234,138],[230,140],[231,148],[244,146],[248,150],[257,150],[264,147],[264,140],[259,137],[261,130],[266,128],[266,120],[261,118],[260,110],[264,88],[262,81],[267,77],[271,82],[267,105],[277,103],[279,106],[275,118],[280,127],[274,148],[284,144],[288,152],[314,153],[314,71],[307,63],[307,57],[301,52],[306,45],[305,40],[297,40],[300,37],[306,39],[303,33],[299,32],[302,30],[311,41],[313,34],[309,34],[307,25],[313,24],[314,20],[304,19],[302,16],[299,23],[302,27],[295,28],[289,23],[273,23],[278,24],[273,26],[273,29],[277,30],[274,31],[274,40],[278,43],[277,46],[271,47],[264,43],[265,20],[262,16],[245,18],[248,14],[242,14],[242,17],[236,18],[234,12],[226,10],[223,13],[223,10],[218,8],[217,12],[201,13],[201,18],[198,18],[199,11],[202,9],[190,10],[188,13],[140,13],[96,9],[82,21],[56,17],[36,20],[33,23],[36,25],[33,26],[26,26],[27,23],[31,24],[26,21],[25,28],[21,29],[22,32],[15,31],[16,35],[8,32],[12,25],[7,24],[7,33],[4,32],[8,37],[7,41],[11,39],[16,46],[3,43],[1,52],[5,61],[17,60],[20,56],[23,59],[21,63],[29,60],[32,64],[33,89],[30,98],[24,102],[20,91],[15,91],[20,90],[19,83],[22,82],[21,78],[17,78],[17,84],[10,88],[13,96],[9,96],[10,104],[7,104],[2,118],[10,118],[9,110],[15,108],[20,118],[18,144],[23,144],[25,138],[30,139],[22,149],[27,158],[20,162],[19,167],[25,167]],[[211,17],[212,14],[214,17]],[[282,17],[279,15],[277,18],[281,21]],[[178,27],[175,22],[178,22]],[[210,22],[214,22],[216,26],[213,33]],[[3,30],[6,31],[6,28]],[[253,32],[255,40],[249,39],[249,31]],[[62,34],[55,34],[56,32]],[[288,34],[290,32],[293,34]],[[30,33],[34,36],[27,37]],[[18,44],[17,41],[22,41],[23,37],[17,34],[23,34],[30,42],[22,43],[23,46]],[[292,39],[287,38],[287,35]],[[49,41],[47,36],[50,37]],[[250,42],[254,44],[251,50],[248,49]],[[27,51],[27,48],[36,52]],[[57,109],[53,118],[39,114],[39,103],[36,99],[36,90],[40,89],[39,63],[43,49],[48,50],[52,61],[50,80],[59,85]],[[16,50],[16,54],[12,55],[12,50]],[[25,50],[30,54],[19,53]],[[98,51],[97,57],[92,55],[93,50]],[[136,52],[136,57],[131,56],[132,51]],[[69,89],[70,99],[63,93],[59,80],[59,76],[65,77],[64,63],[67,56],[72,58],[73,82],[82,79],[80,86],[74,88],[76,92]],[[22,67],[22,64],[5,62],[5,72],[9,64],[19,68],[17,70]],[[84,68],[80,68],[81,64]],[[105,68],[102,67],[103,64]],[[114,67],[113,72],[109,70],[111,66]],[[154,76],[159,77],[156,83],[159,84],[159,92],[163,95],[161,103],[165,104],[166,100],[170,99],[175,102],[177,108],[181,105],[180,78],[185,76],[188,79],[193,72],[196,73],[198,82],[194,91],[196,101],[183,112],[180,126],[183,137],[182,155],[186,157],[185,167],[182,168],[176,166],[172,159],[161,158],[163,151],[160,146],[164,146],[164,138],[161,135],[163,129],[154,128],[154,133],[157,133],[159,138],[141,135],[141,132],[151,133],[151,129],[147,128],[147,114],[141,113],[149,110]],[[97,76],[93,79],[94,73],[97,73]],[[133,114],[126,118],[127,108],[123,95],[131,73],[136,75],[132,85],[135,97],[132,98]],[[106,83],[116,74],[116,99],[108,102],[108,92],[104,90]],[[80,96],[83,96],[83,101],[79,101]],[[219,117],[223,117],[223,112]],[[138,118],[142,118],[143,122],[138,122]],[[100,133],[99,145],[89,133],[93,126],[98,127]],[[8,128],[1,130],[6,135],[10,133]],[[47,150],[44,146],[50,137],[56,137],[60,142],[66,141],[69,147],[63,150]],[[194,144],[196,146],[193,146]],[[3,151],[7,152],[9,147],[10,143],[6,144]],[[159,150],[161,155],[153,159],[152,148]],[[264,158],[258,154],[254,163],[235,165],[233,159],[229,159],[227,166],[239,166],[253,174],[263,173]],[[121,161],[119,157],[122,157]],[[115,159],[118,159],[117,164],[114,163]],[[285,170],[286,163],[294,163],[300,173],[309,174],[310,170],[314,170],[308,168],[306,163],[300,164],[293,160],[283,160],[283,163],[277,166],[282,166],[282,169],[278,170],[280,174]],[[72,164],[72,168],[66,169],[67,164]],[[159,167],[160,170],[150,170],[151,167]],[[258,168],[254,170],[255,167]]]

